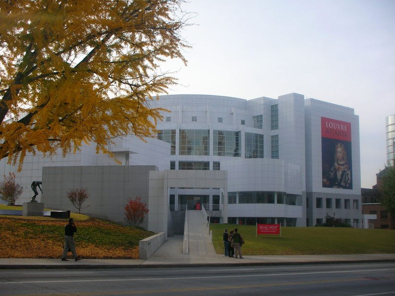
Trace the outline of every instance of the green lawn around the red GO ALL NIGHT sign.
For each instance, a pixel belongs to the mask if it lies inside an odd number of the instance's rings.
[[[279,235],[255,236],[255,225],[210,224],[218,254],[224,251],[222,234],[238,228],[245,255],[393,254],[395,230],[340,227],[281,227]]]

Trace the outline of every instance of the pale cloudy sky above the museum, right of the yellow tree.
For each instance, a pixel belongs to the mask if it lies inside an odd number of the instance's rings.
[[[387,162],[395,114],[395,0],[190,0],[193,46],[169,94],[254,99],[299,93],[359,115],[361,186]],[[167,67],[167,68],[166,68]]]

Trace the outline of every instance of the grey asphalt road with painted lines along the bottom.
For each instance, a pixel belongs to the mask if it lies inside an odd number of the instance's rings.
[[[0,270],[0,296],[395,295],[394,263]]]

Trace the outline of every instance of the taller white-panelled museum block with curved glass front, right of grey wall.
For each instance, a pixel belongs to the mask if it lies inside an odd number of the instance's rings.
[[[157,106],[171,111],[157,126],[159,139],[171,145],[171,169],[228,172],[228,197],[216,188],[170,188],[171,208],[197,202],[219,208],[211,213],[212,222],[313,226],[326,214],[360,222],[359,129],[353,109],[295,93],[253,100],[168,95]],[[326,141],[324,118],[335,122],[334,134],[337,125],[348,128],[346,138],[340,131],[338,139]],[[352,163],[343,168],[351,183],[324,184],[330,167],[323,154],[330,153],[333,166],[338,142],[349,150]]]

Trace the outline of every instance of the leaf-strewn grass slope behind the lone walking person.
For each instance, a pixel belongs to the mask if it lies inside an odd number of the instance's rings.
[[[77,254],[82,258],[138,259],[139,241],[154,234],[99,219],[73,218],[77,225]],[[67,220],[44,217],[0,217],[0,258],[60,258],[66,224]]]

